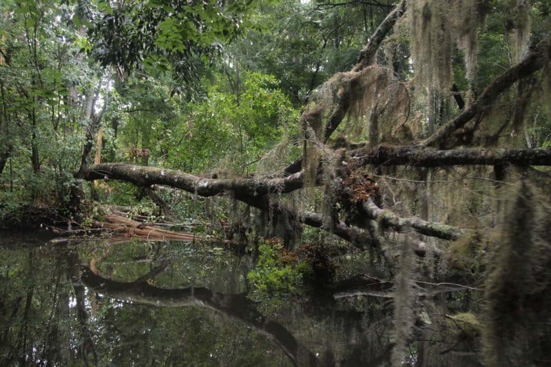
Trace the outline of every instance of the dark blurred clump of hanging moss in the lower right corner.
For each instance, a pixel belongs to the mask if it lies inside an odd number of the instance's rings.
[[[528,182],[508,202],[501,229],[486,283],[486,361],[541,365],[551,348],[551,210]]]

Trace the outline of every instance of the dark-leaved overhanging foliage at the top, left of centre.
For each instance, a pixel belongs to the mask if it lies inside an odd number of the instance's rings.
[[[180,81],[172,92],[194,94],[198,76],[229,43],[253,25],[260,1],[127,1],[117,6],[90,2],[85,14],[94,56],[102,65],[129,73],[168,72]]]

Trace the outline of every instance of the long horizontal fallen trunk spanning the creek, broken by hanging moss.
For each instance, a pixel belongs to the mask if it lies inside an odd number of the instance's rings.
[[[453,165],[551,165],[551,149],[450,149],[433,150],[422,147],[380,145],[362,147],[347,152],[355,167],[362,165],[410,165],[415,167],[446,167]],[[166,185],[199,196],[216,196],[231,191],[237,196],[258,198],[267,193],[289,193],[304,187],[303,174],[297,172],[284,178],[201,178],[174,169],[102,163],[93,165],[83,175],[85,180],[114,179],[140,187]]]

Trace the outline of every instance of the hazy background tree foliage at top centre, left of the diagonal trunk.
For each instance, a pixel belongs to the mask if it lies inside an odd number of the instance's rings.
[[[355,63],[367,37],[386,16],[384,8],[360,1],[342,5],[295,0],[263,3],[256,14],[262,26],[227,48],[233,65],[222,68],[230,74],[240,69],[273,74],[293,105],[304,104],[315,87]]]

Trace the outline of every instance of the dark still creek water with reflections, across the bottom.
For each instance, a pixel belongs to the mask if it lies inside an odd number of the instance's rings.
[[[212,244],[0,235],[1,366],[391,363],[384,294],[253,302],[251,257]],[[465,292],[424,297],[404,365],[476,366],[477,346],[440,322],[468,302]]]

